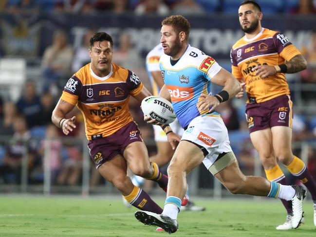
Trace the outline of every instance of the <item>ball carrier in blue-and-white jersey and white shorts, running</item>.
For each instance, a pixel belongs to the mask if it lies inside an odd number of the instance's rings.
[[[214,109],[241,91],[237,79],[224,70],[212,57],[188,44],[190,24],[182,16],[170,16],[162,21],[161,39],[165,55],[160,58],[160,70],[165,85],[160,96],[171,99],[173,109],[185,129],[168,166],[168,188],[162,214],[137,211],[139,221],[157,225],[168,233],[178,229],[177,215],[186,193],[186,175],[202,162],[233,194],[248,194],[281,198],[293,205],[292,224],[302,219],[302,186],[282,185],[262,177],[242,174],[229,145],[228,132],[220,114]],[[212,83],[223,91],[210,95]],[[149,123],[157,121],[145,117]],[[168,128],[170,131],[171,128]]]

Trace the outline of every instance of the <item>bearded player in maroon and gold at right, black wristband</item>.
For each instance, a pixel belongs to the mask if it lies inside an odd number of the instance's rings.
[[[262,13],[257,2],[243,1],[238,15],[245,36],[232,47],[232,74],[245,83],[246,119],[252,144],[269,181],[286,184],[278,158],[307,187],[314,202],[316,225],[316,184],[304,162],[292,153],[293,106],[284,74],[304,70],[306,60],[286,36],[261,26]],[[236,95],[242,96],[243,90]],[[291,207],[287,201],[281,201],[287,217],[277,229],[295,228]]]

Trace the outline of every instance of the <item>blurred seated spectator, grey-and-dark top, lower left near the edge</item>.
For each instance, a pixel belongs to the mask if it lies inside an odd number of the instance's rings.
[[[28,169],[33,168],[36,154],[36,143],[31,140],[31,134],[27,129],[26,120],[22,115],[16,115],[13,119],[14,135],[6,147],[6,153],[0,164],[0,181],[9,182],[8,175],[14,175],[15,183],[21,181],[21,165],[24,152],[28,153]],[[26,151],[25,151],[26,149]]]

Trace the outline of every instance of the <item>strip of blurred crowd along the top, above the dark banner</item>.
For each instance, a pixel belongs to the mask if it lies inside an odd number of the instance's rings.
[[[52,13],[94,14],[111,11],[125,14],[236,14],[240,0],[1,0],[7,13],[42,11]],[[309,15],[316,13],[315,0],[258,0],[264,13]]]

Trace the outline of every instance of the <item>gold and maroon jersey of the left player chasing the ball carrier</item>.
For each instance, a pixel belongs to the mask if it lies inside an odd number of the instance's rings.
[[[60,98],[80,109],[87,138],[92,140],[109,136],[133,120],[129,98],[142,89],[139,77],[125,68],[112,63],[110,74],[98,77],[88,63],[68,80]]]

